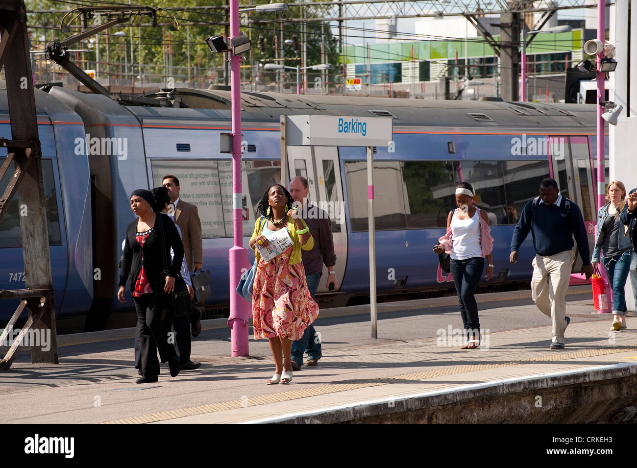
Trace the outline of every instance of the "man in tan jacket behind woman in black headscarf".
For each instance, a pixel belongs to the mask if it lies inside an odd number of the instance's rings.
[[[203,266],[203,241],[201,239],[201,220],[194,204],[183,201],[179,197],[179,179],[172,174],[162,178],[162,185],[168,188],[170,202],[173,204],[175,223],[182,230],[183,257],[189,271],[201,270]],[[194,299],[194,294],[190,295]],[[201,313],[193,306],[190,313],[192,336],[201,333]]]

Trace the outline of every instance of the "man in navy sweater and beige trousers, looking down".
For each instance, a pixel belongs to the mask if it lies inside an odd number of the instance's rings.
[[[582,273],[588,280],[592,275],[589,241],[582,211],[575,203],[562,197],[553,179],[540,183],[540,197],[529,201],[511,239],[511,263],[517,262],[518,250],[529,230],[537,255],[533,259],[531,294],[538,309],[553,323],[552,350],[564,349],[564,330],[570,322],[566,316],[566,290],[571,279],[575,259],[573,236],[582,257]]]

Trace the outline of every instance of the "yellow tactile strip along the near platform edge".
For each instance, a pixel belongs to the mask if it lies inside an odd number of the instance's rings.
[[[511,367],[513,365],[519,365],[521,362],[549,362],[558,360],[569,360],[583,357],[601,356],[605,354],[624,353],[626,351],[637,351],[637,348],[626,348],[624,346],[619,346],[618,348],[571,351],[569,353],[552,353],[544,356],[516,359],[510,362],[505,362],[503,364],[451,365],[438,369],[431,369],[428,371],[410,372],[409,374],[401,374],[387,378],[371,379],[369,381],[362,381],[360,383],[338,383],[334,385],[323,385],[314,388],[292,390],[290,392],[282,392],[273,395],[261,395],[259,397],[252,397],[247,399],[224,401],[204,406],[194,406],[191,408],[175,409],[173,411],[162,411],[161,413],[150,413],[148,415],[132,416],[131,418],[106,421],[103,422],[103,424],[152,423],[157,421],[171,420],[175,418],[183,418],[184,416],[216,413],[217,411],[225,411],[227,409],[245,408],[248,406],[259,406],[262,404],[276,403],[280,401],[333,394],[336,392],[344,392],[345,390],[355,390],[357,388],[365,388],[369,386],[387,385],[389,383],[397,383],[404,380],[424,380],[452,374],[462,374],[464,372]]]

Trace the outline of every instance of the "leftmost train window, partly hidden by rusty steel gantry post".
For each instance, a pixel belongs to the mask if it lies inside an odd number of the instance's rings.
[[[0,159],[2,164],[4,159]],[[53,162],[50,159],[42,159],[42,176],[44,187],[45,206],[47,208],[47,227],[49,245],[62,245],[60,232],[60,218],[57,211],[57,194],[55,192],[55,182],[53,178]],[[8,185],[13,175],[14,165],[10,164],[10,169],[4,174],[0,181],[0,187]],[[20,229],[20,209],[18,207],[18,195],[15,194],[9,203],[3,220],[0,222],[0,248],[22,246],[22,234]]]

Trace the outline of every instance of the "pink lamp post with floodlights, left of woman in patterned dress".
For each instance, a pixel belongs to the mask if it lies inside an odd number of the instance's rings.
[[[243,188],[241,187],[241,68],[240,55],[250,51],[252,42],[239,32],[240,11],[283,11],[285,3],[268,3],[253,8],[239,9],[239,0],[230,1],[230,37],[225,41],[222,36],[206,39],[211,52],[231,53],[230,89],[232,102],[232,143],[233,155],[233,247],[230,249],[230,316],[231,356],[248,355],[248,320],[250,306],[236,294],[241,278],[241,268],[250,267],[248,252],[243,247]]]

